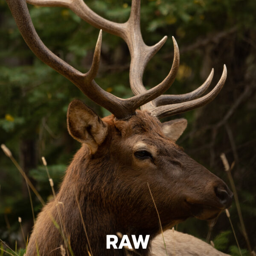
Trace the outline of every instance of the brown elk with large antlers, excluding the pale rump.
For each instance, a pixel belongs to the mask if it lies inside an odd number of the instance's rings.
[[[213,70],[204,84],[191,93],[163,95],[175,80],[179,66],[179,49],[173,38],[174,60],[169,74],[160,84],[146,90],[142,79],[145,66],[167,37],[154,46],[144,43],[140,0],[132,1],[125,23],[100,17],[83,0],[27,0],[37,6],[70,8],[91,25],[124,39],[131,54],[130,85],[134,96],[120,99],[102,90],[94,80],[99,68],[102,30],[92,66],[87,73],[81,73],[43,44],[32,24],[26,0],[6,1],[35,55],[112,113],[101,119],[81,101],[75,99],[70,103],[68,131],[82,145],[67,168],[56,200],[50,201],[38,215],[26,256],[61,255],[63,244],[68,255],[125,255],[125,249],[106,249],[106,235],[116,232],[128,237],[150,235],[148,247],[136,252],[148,256],[152,239],[160,233],[152,197],[163,230],[189,217],[215,218],[230,206],[232,192],[227,185],[176,144],[186,128],[186,119],[159,121],[212,101],[226,80],[225,65],[221,79],[204,96]]]

